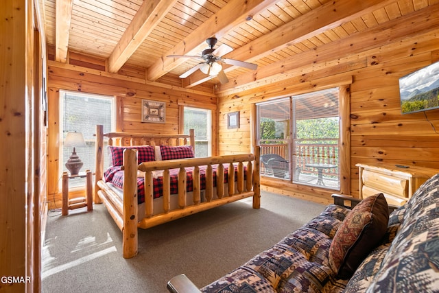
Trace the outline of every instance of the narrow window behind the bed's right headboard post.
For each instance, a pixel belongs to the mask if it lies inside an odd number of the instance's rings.
[[[184,132],[195,130],[195,157],[212,155],[212,113],[202,108],[184,107]]]

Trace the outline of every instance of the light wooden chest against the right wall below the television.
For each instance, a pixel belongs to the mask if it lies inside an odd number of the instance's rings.
[[[439,173],[425,167],[396,167],[392,164],[366,165],[358,163],[359,197],[367,198],[382,192],[389,204],[403,205],[423,183]]]

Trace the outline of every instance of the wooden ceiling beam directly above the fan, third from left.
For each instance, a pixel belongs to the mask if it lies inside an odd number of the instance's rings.
[[[207,21],[202,23],[189,36],[178,43],[174,49],[163,54],[154,65],[147,70],[147,80],[157,80],[168,71],[182,65],[185,58],[167,58],[168,55],[195,55],[199,54],[206,47],[206,38],[216,36],[221,38],[228,31],[240,23],[244,23],[248,16],[257,14],[269,8],[276,0],[232,0],[224,8],[213,14]]]

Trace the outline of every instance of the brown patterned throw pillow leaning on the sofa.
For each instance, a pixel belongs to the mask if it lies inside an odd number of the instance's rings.
[[[389,208],[383,194],[361,200],[344,219],[329,248],[329,266],[339,279],[349,279],[363,259],[381,243]]]

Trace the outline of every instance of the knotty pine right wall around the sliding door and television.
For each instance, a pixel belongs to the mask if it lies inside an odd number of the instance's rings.
[[[387,38],[370,36],[368,42],[376,40],[376,44],[368,43],[364,50],[356,46],[361,41],[357,36],[337,43],[337,47],[328,46],[328,50],[338,49],[344,55],[327,57],[323,62],[316,61],[317,53],[298,56],[302,64],[308,62],[309,66],[278,84],[219,93],[219,153],[250,150],[252,104],[337,86],[337,80],[352,78],[350,117],[342,117],[350,119],[351,125],[351,194],[358,196],[356,163],[439,168],[439,110],[401,115],[399,99],[399,78],[439,60],[439,29],[416,32],[413,25],[406,28],[405,36],[401,27],[396,28],[383,32]],[[355,49],[344,51],[346,47]],[[226,115],[237,110],[241,128],[228,130]],[[317,202],[330,202],[333,193],[276,179],[263,179],[261,183],[266,190]]]

